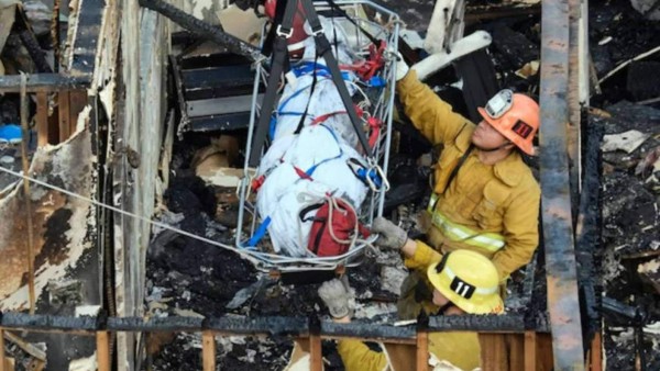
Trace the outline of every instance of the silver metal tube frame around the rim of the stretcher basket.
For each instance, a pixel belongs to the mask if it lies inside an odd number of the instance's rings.
[[[387,32],[387,45],[393,49],[397,48],[398,38],[399,38],[399,16],[398,14],[372,2],[372,1],[336,1],[336,4],[341,8],[350,8],[350,7],[370,7],[383,14],[385,19],[389,20],[389,24],[392,30],[387,31],[383,29],[383,31]],[[330,9],[323,1],[315,2],[315,7],[318,9]],[[361,20],[365,21],[365,20]],[[376,25],[375,23],[373,23]],[[356,29],[356,32],[360,32]],[[364,37],[366,38],[366,37]],[[384,119],[385,126],[385,135],[382,134],[382,139],[377,142],[376,147],[374,148],[374,157],[378,160],[378,165],[383,169],[384,176],[387,176],[387,166],[389,160],[389,148],[391,148],[391,135],[392,132],[392,120],[393,120],[393,108],[394,108],[394,98],[395,98],[395,83],[394,83],[394,74],[396,71],[396,58],[389,63],[389,66],[386,66],[386,76],[388,85],[386,87],[386,91],[384,91],[380,101],[376,103],[376,108],[374,112],[380,114],[381,119]],[[245,148],[245,153],[250,154],[252,150],[253,144],[253,135],[255,125],[256,125],[256,116],[257,111],[260,110],[260,104],[257,102],[257,93],[260,82],[264,80],[264,76],[266,76],[266,71],[262,64],[256,65],[256,74],[254,77],[254,90],[253,90],[253,99],[252,99],[252,112],[250,116],[250,126],[248,131],[248,145]],[[244,176],[237,189],[240,199],[239,206],[239,216],[238,216],[238,227],[237,227],[237,237],[235,237],[235,246],[238,249],[241,249],[243,254],[251,256],[251,261],[254,263],[255,268],[262,271],[279,271],[279,272],[290,272],[290,271],[309,271],[309,270],[334,270],[341,266],[351,266],[356,265],[355,258],[360,256],[360,254],[366,247],[366,244],[356,244],[356,246],[352,246],[351,249],[341,256],[334,257],[288,257],[288,256],[279,256],[276,254],[267,254],[258,251],[256,247],[244,246],[245,239],[245,228],[243,226],[243,221],[245,220],[245,212],[250,207],[250,203],[248,201],[248,196],[250,194],[251,187],[251,175],[254,173],[254,169],[249,166],[248,159],[245,160],[244,166]],[[371,196],[370,196],[371,195]],[[367,195],[367,201],[363,205],[363,207],[369,209],[367,212],[363,212],[362,214],[366,214],[369,220],[363,220],[367,224],[371,224],[373,217],[375,215],[382,215],[384,203],[385,203],[385,192],[370,192]],[[253,216],[256,215],[256,211],[252,210]],[[252,218],[252,223],[249,227],[249,235],[252,235],[256,229],[256,217]],[[371,237],[369,243],[372,243],[374,237]]]

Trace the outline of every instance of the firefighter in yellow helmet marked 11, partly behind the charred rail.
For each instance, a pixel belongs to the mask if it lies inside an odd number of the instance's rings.
[[[431,282],[431,314],[460,315],[502,313],[498,295],[499,278],[493,263],[470,250],[457,250],[441,256],[426,245],[399,244],[406,266],[426,276]],[[319,288],[319,296],[338,323],[350,323],[353,292],[344,282],[332,280]],[[416,360],[414,346],[381,344],[372,349],[360,340],[340,340],[338,351],[346,371],[410,370]],[[481,348],[476,333],[450,331],[429,334],[429,369],[439,364],[473,370],[480,367]],[[444,368],[443,370],[449,370]]]

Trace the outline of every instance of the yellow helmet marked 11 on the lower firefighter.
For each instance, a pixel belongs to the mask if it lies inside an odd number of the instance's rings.
[[[430,265],[431,284],[458,307],[471,314],[502,313],[499,274],[488,258],[470,250],[447,252]]]

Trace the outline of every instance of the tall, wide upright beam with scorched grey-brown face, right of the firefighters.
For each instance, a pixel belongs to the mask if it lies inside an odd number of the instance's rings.
[[[556,370],[583,370],[566,143],[569,3],[543,0],[542,7],[540,178],[552,349]]]

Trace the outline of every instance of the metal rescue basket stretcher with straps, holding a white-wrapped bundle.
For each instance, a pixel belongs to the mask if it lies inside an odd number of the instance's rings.
[[[297,1],[289,0],[289,2],[292,1],[297,3]],[[306,1],[308,1],[307,4],[305,4]],[[391,148],[392,115],[394,109],[395,74],[397,63],[396,52],[392,50],[397,50],[400,23],[399,18],[396,13],[371,1],[311,2],[311,0],[302,0],[300,1],[300,4],[297,4],[296,7],[298,5],[300,8],[297,10],[301,10],[301,7],[305,5],[314,7],[316,13],[322,15],[321,20],[326,22],[323,23],[326,26],[329,25],[328,22],[331,22],[330,24],[332,25],[332,32],[330,35],[328,35],[329,32],[326,31],[326,36],[330,41],[334,40],[336,45],[333,53],[338,55],[340,54],[337,35],[338,30],[343,30],[343,32],[345,32],[345,36],[348,36],[348,44],[351,46],[352,52],[358,55],[358,58],[355,59],[356,61],[349,65],[345,63],[342,64],[341,57],[338,57],[339,63],[336,61],[336,66],[341,69],[342,77],[344,80],[346,80],[346,91],[350,90],[350,93],[352,93],[351,101],[352,104],[354,104],[354,112],[358,113],[358,116],[361,120],[361,125],[356,125],[355,121],[353,120],[352,127],[355,130],[360,128],[363,132],[353,132],[348,134],[340,133],[336,130],[336,126],[332,126],[332,123],[327,124],[327,121],[333,120],[334,116],[339,115],[342,115],[344,120],[348,120],[345,117],[350,116],[349,111],[351,111],[353,108],[341,111],[336,110],[334,112],[323,112],[323,114],[316,116],[310,114],[311,112],[308,112],[308,109],[310,108],[309,101],[312,100],[315,94],[315,87],[317,89],[322,89],[322,87],[319,88],[319,86],[321,86],[321,82],[319,82],[320,79],[326,79],[322,82],[326,86],[334,82],[333,87],[337,87],[338,80],[330,80],[330,75],[332,74],[332,56],[323,55],[326,57],[323,60],[326,61],[327,66],[319,63],[319,53],[322,52],[317,52],[316,58],[312,60],[305,58],[305,56],[297,59],[292,58],[289,60],[290,71],[286,75],[288,78],[282,80],[274,79],[274,77],[271,76],[271,71],[278,71],[278,69],[273,67],[275,66],[277,58],[275,55],[276,50],[274,50],[273,58],[271,58],[271,70],[268,70],[267,66],[264,66],[266,64],[265,61],[256,65],[249,135],[245,147],[246,158],[244,165],[244,177],[237,189],[240,200],[240,209],[238,215],[235,246],[243,257],[253,262],[255,268],[262,271],[293,272],[309,270],[333,270],[342,266],[351,267],[359,265],[361,262],[361,256],[363,255],[364,249],[374,241],[375,236],[365,236],[359,233],[359,224],[355,223],[355,233],[352,234],[350,238],[346,238],[345,240],[341,238],[338,239],[332,233],[331,227],[332,215],[336,215],[333,213],[333,207],[342,207],[342,212],[350,212],[350,210],[354,209],[353,212],[355,213],[355,218],[359,220],[360,224],[371,225],[374,217],[382,215],[385,192],[389,188],[386,178],[386,169]],[[341,10],[338,10],[338,8]],[[305,10],[306,13],[309,14],[310,9],[307,8]],[[290,12],[289,9],[287,9],[287,11]],[[381,24],[373,20],[367,20],[365,15],[367,13],[366,11],[370,11],[370,13],[380,14],[381,20],[385,23]],[[285,14],[284,18],[286,21],[287,15]],[[306,24],[306,26],[311,26],[312,29],[309,38],[314,37],[316,40],[319,37],[319,27],[317,26],[315,30],[314,20],[308,19],[308,21],[309,22]],[[290,36],[293,33],[290,30],[288,33],[286,30],[285,32],[280,32],[280,25],[274,24],[272,26],[277,27],[277,33],[280,37]],[[264,31],[263,34],[265,35],[266,32]],[[264,42],[265,37],[262,37],[262,46]],[[316,40],[316,42],[318,46],[318,40]],[[290,47],[288,50],[290,50]],[[309,79],[309,74],[314,74],[311,88],[309,86],[299,87],[302,83],[298,83],[298,78],[301,77],[305,79],[307,77]],[[349,81],[349,75],[353,77],[353,80]],[[332,78],[334,78],[334,76],[332,76]],[[271,110],[268,108],[263,109],[258,101],[261,94],[260,87],[263,87],[264,83],[268,85],[266,81],[275,81],[276,83],[279,82],[282,86],[277,94],[280,97],[279,99],[275,99],[273,106],[274,112],[272,114]],[[266,89],[268,87],[266,87]],[[289,100],[293,97],[300,94],[301,90],[305,89],[307,89],[307,93],[309,94],[309,101],[306,102],[304,112],[290,112],[290,110],[287,110],[286,104],[288,104]],[[341,95],[341,92],[339,95]],[[264,98],[261,103],[266,105],[266,100],[267,98]],[[343,99],[343,103],[345,106],[345,99]],[[322,106],[323,104],[324,103],[321,102],[316,106]],[[314,108],[315,104],[311,105]],[[264,119],[261,115],[267,116]],[[282,127],[276,125],[280,125],[277,120],[285,116],[289,116],[287,117],[289,121],[293,120],[290,116],[296,116],[295,121],[299,120],[300,123],[294,135],[285,135],[283,138],[283,135],[277,136],[277,132],[275,132],[274,127],[283,131]],[[264,145],[262,148],[262,144],[258,143],[258,137],[262,135],[260,134],[260,126],[264,126],[264,122],[266,122],[266,126],[270,126],[267,132],[271,140],[270,145]],[[304,122],[307,122],[307,124],[304,125]],[[261,127],[261,131],[264,131],[264,127]],[[336,145],[339,149],[339,154],[333,157],[322,159],[319,162],[315,162],[311,167],[298,168],[296,166],[292,166],[292,170],[288,170],[289,172],[295,171],[298,176],[300,176],[301,179],[306,180],[311,180],[312,177],[329,178],[338,173],[337,171],[332,170],[340,169],[337,167],[337,164],[342,164],[342,171],[345,171],[344,167],[350,169],[352,171],[352,176],[360,179],[364,187],[364,196],[351,196],[348,201],[341,198],[334,198],[334,191],[326,192],[324,196],[322,196],[324,200],[321,200],[321,202],[326,202],[330,205],[330,211],[328,214],[330,216],[330,235],[336,240],[342,240],[342,243],[349,245],[348,251],[340,255],[317,256],[309,250],[306,250],[302,256],[283,254],[283,250],[287,250],[288,246],[284,246],[284,248],[280,248],[280,250],[277,251],[275,249],[275,240],[271,240],[271,234],[268,233],[270,228],[274,228],[274,226],[270,224],[272,222],[270,216],[271,211],[265,211],[266,207],[274,207],[272,212],[276,213],[278,212],[277,207],[272,206],[268,203],[264,203],[263,200],[257,200],[257,198],[261,195],[258,192],[263,191],[260,189],[260,187],[262,187],[264,182],[268,180],[268,177],[275,177],[273,176],[275,171],[272,171],[272,169],[275,168],[276,171],[282,170],[277,167],[284,167],[280,165],[280,162],[284,162],[283,159],[285,158],[285,155],[290,155],[287,151],[296,151],[295,149],[290,149],[292,144],[295,145],[297,143],[296,140],[305,135],[311,135],[316,137],[319,135],[327,135],[328,139],[323,142],[326,143],[323,145],[327,145],[327,143],[333,145],[332,140],[337,142]],[[339,139],[339,137],[342,138]],[[366,137],[369,137],[369,139],[366,139]],[[369,148],[365,148],[366,140],[369,140]],[[350,146],[346,145],[346,143],[350,143]],[[277,146],[283,148],[275,148]],[[305,147],[305,145],[302,145],[302,147]],[[314,151],[314,148],[311,148],[311,150]],[[276,153],[276,155],[273,155],[273,153]],[[253,154],[253,156],[250,154]],[[254,156],[254,154],[256,154],[256,156]],[[304,155],[304,153],[301,155]],[[290,156],[295,157],[296,155]],[[275,157],[278,158],[279,161],[274,160],[273,158]],[[298,154],[298,158],[304,156]],[[257,161],[256,167],[254,166],[255,159]],[[334,168],[326,165],[333,160],[341,162],[334,162]],[[301,161],[305,162],[304,159]],[[288,166],[288,164],[286,166]],[[296,193],[296,191],[292,192]],[[306,193],[306,191],[298,192],[295,194],[295,198],[300,201],[307,196]],[[317,194],[316,196],[319,195]],[[361,201],[359,204],[352,204],[352,202],[350,202],[351,200]],[[298,221],[299,225],[290,225],[292,231],[296,231],[296,228],[297,231],[300,231],[300,228],[305,227],[309,229],[309,225],[302,227],[300,225],[300,223],[304,221],[314,220],[314,217],[307,220],[302,217],[302,210],[311,209],[309,207],[309,204],[306,206],[307,207],[300,207],[300,220]],[[334,211],[337,211],[337,209]],[[286,227],[288,227],[288,225],[286,225]],[[361,228],[360,231],[363,229]]]

